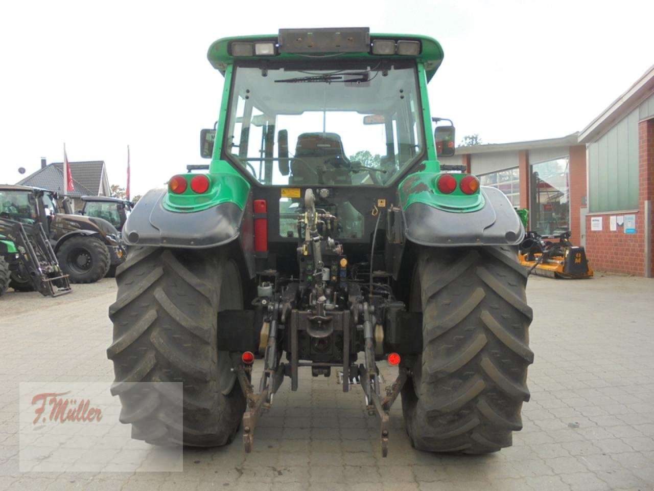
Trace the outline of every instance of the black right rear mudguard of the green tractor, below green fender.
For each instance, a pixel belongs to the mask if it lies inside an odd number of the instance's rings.
[[[404,210],[404,235],[421,245],[459,247],[462,245],[517,245],[525,228],[504,193],[494,187],[481,187],[485,198],[482,209],[453,213],[422,203]]]

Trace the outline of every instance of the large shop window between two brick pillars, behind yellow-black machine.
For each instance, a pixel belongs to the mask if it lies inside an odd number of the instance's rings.
[[[530,225],[541,235],[570,230],[568,156],[531,166]]]

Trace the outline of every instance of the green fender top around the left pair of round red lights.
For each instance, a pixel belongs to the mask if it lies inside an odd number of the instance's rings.
[[[220,162],[217,162],[220,164]],[[209,189],[203,194],[197,194],[191,189],[191,179],[199,174],[180,174],[186,179],[186,191],[175,194],[168,191],[163,198],[163,208],[170,211],[202,211],[221,203],[233,203],[243,209],[250,192],[250,184],[245,177],[230,167],[228,162],[222,162],[225,172],[205,174],[209,178]]]

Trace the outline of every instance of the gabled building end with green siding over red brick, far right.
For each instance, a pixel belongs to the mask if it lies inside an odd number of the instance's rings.
[[[588,156],[587,253],[600,270],[654,275],[654,67],[579,134]]]

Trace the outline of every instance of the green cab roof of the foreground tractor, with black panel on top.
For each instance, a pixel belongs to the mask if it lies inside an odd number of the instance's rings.
[[[326,39],[328,36],[337,36],[339,31],[355,31],[355,35],[365,35],[367,43],[361,43],[360,46],[364,46],[361,50],[338,50],[334,46],[324,46],[322,48],[317,47],[307,48],[302,46],[297,50],[293,50],[288,46],[290,43],[284,39],[289,39],[290,34],[296,34],[298,32],[306,33],[307,37],[317,33],[318,31],[323,31],[322,39]],[[326,33],[326,34],[325,34]],[[285,36],[285,37],[284,37]],[[369,36],[369,38],[368,38]],[[318,38],[320,35],[317,36]],[[375,41],[383,40],[394,40],[394,41],[417,41],[420,43],[419,53],[418,54],[372,54],[371,45],[374,45]],[[301,39],[298,39],[301,41]],[[233,56],[232,45],[233,43],[274,43],[275,53],[267,56]],[[306,45],[306,39],[304,40]],[[319,43],[315,43],[318,45]],[[311,44],[310,44],[311,46]],[[322,55],[322,56],[321,56]],[[324,57],[323,57],[324,56]],[[343,29],[280,29],[279,35],[252,35],[252,36],[237,36],[237,37],[224,37],[215,41],[210,47],[209,52],[207,52],[207,58],[211,65],[220,71],[224,75],[227,65],[233,64],[237,60],[243,61],[268,61],[268,62],[293,62],[293,61],[307,61],[308,58],[312,60],[317,60],[322,58],[322,60],[332,61],[335,58],[339,60],[370,60],[375,62],[376,60],[416,60],[417,62],[424,63],[425,71],[427,74],[427,80],[431,80],[438,70],[441,62],[443,61],[443,48],[441,45],[433,39],[432,37],[415,35],[415,34],[383,34],[383,33],[368,33],[367,28],[343,28]]]

